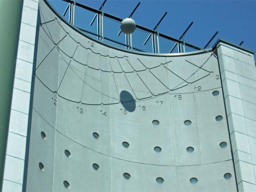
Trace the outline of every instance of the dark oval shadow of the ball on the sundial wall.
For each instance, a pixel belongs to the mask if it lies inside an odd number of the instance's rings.
[[[129,93],[128,91],[121,91],[120,93],[120,102],[122,104],[122,106],[129,112],[134,112],[135,108],[136,108],[136,103],[135,103],[135,99],[133,98],[133,96],[131,95],[131,93]]]

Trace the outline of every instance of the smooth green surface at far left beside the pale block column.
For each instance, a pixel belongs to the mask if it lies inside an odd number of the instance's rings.
[[[23,0],[0,0],[0,191],[12,104]]]

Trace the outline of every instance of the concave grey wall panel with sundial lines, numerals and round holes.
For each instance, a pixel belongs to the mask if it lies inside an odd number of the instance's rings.
[[[39,14],[27,191],[236,191],[215,53],[129,52]]]

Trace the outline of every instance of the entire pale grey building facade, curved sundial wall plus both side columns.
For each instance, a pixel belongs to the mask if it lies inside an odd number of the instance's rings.
[[[14,91],[3,191],[256,191],[252,52],[128,51],[37,5],[24,0],[34,19],[15,82],[27,84]]]

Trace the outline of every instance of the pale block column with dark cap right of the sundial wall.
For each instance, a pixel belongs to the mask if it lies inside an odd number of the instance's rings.
[[[219,41],[218,59],[239,191],[256,191],[256,67],[253,53]]]

